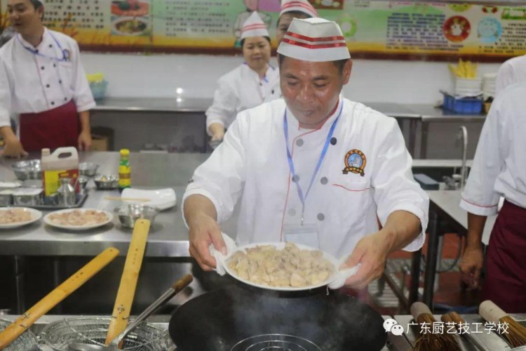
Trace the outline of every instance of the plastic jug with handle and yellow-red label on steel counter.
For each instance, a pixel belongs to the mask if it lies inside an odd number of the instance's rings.
[[[59,147],[53,154],[49,149],[42,149],[41,168],[44,195],[48,197],[57,192],[60,178],[72,178],[73,183],[77,183],[79,154],[75,147]]]

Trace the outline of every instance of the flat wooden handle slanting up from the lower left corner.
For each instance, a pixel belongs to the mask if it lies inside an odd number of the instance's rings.
[[[90,260],[90,262],[65,280],[65,282],[48,293],[42,300],[29,308],[29,310],[0,333],[0,350],[15,340],[15,338],[18,338],[20,334],[26,331],[29,326],[32,326],[43,314],[46,314],[72,292],[79,289],[82,284],[86,283],[91,277],[97,274],[97,272],[106,267],[106,265],[112,262],[118,255],[119,250],[114,247],[109,247],[102,251],[97,257]]]

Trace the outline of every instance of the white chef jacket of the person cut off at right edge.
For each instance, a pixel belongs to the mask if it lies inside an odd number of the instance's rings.
[[[462,192],[461,208],[497,213],[499,197],[526,208],[526,82],[508,86],[493,101]]]

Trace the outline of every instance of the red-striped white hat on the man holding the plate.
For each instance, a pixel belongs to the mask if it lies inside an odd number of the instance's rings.
[[[278,53],[302,61],[325,62],[351,58],[336,22],[323,18],[295,18],[288,27]]]

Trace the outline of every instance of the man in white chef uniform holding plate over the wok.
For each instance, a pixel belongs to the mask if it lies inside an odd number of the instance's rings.
[[[337,23],[295,18],[278,53],[283,99],[238,114],[187,187],[189,251],[215,267],[208,246],[224,252],[218,223],[241,201],[238,244],[318,247],[360,263],[346,285],[363,289],[389,253],[422,246],[429,199],[396,120],[340,95],[352,62]]]

